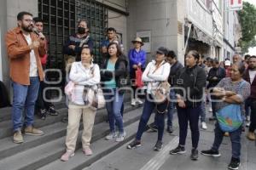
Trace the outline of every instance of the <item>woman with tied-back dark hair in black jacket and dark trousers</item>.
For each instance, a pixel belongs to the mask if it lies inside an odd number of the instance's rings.
[[[171,150],[171,155],[183,154],[185,142],[188,133],[188,124],[191,129],[192,150],[190,158],[197,160],[199,141],[199,116],[201,113],[201,102],[203,92],[206,87],[206,71],[198,64],[200,54],[195,51],[189,51],[186,55],[186,67],[177,73],[174,86],[180,88],[176,90],[177,95],[177,118],[179,125],[179,143],[176,149]]]

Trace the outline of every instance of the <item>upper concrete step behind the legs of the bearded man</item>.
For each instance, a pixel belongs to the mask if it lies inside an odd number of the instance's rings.
[[[130,103],[130,101],[131,101],[131,96],[129,94],[125,95],[125,102],[127,102],[127,105],[128,103]],[[58,104],[59,107],[61,107],[61,105],[64,107],[62,107],[59,110],[56,110],[60,113],[58,116],[47,116],[45,120],[39,119],[38,116],[35,116],[35,122],[34,122],[35,127],[44,127],[44,126],[53,124],[55,122],[60,122],[64,116],[67,116],[67,108],[65,104],[64,103]],[[3,122],[0,122],[0,129],[1,129],[0,139],[13,135],[12,121],[6,120]]]

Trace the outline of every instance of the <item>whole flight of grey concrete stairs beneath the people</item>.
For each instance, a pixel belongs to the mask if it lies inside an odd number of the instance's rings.
[[[124,111],[124,123],[126,127],[129,127],[132,123],[137,122],[142,114],[142,108],[140,106],[132,107],[130,105],[130,98],[125,97],[125,111]],[[4,108],[0,109],[0,169],[1,170],[15,170],[15,169],[47,169],[47,166],[55,167],[55,164],[62,166],[64,162],[60,162],[59,158],[61,154],[65,151],[65,137],[67,133],[67,123],[61,122],[61,119],[67,115],[67,108],[65,107],[64,102],[61,102],[55,105],[56,110],[60,113],[59,116],[47,116],[46,120],[38,119],[35,116],[35,126],[40,127],[44,130],[44,136],[28,136],[24,135],[25,142],[23,144],[15,144],[12,141],[12,123],[10,121],[10,109]],[[96,113],[96,121],[92,137],[92,149],[97,144],[98,139],[105,137],[109,133],[107,120],[107,111],[102,109]],[[125,127],[125,130],[126,130]],[[82,126],[80,126],[79,139],[77,144],[77,149],[81,148],[80,135],[81,135]],[[127,128],[129,129],[129,128]],[[127,131],[129,132],[129,130]],[[136,130],[133,133],[128,133],[127,138],[131,139],[131,135],[134,135]],[[90,162],[96,161],[96,157],[103,156],[108,154],[110,150],[119,147],[122,143],[112,143],[109,145],[109,148],[106,150],[97,151],[94,156],[90,156],[91,159],[81,161],[75,167],[64,167],[61,169],[73,169],[79,166],[89,165]],[[104,147],[103,147],[104,148]],[[79,151],[78,151],[79,153]],[[79,156],[79,154],[78,154]],[[77,160],[77,159],[74,159]],[[78,159],[79,160],[79,159]],[[87,161],[86,161],[87,160]],[[58,165],[60,162],[61,164]],[[64,163],[65,164],[65,163]],[[66,163],[67,165],[67,163]],[[49,167],[49,169],[52,169]],[[55,169],[55,168],[53,168]],[[81,168],[80,168],[81,169]]]

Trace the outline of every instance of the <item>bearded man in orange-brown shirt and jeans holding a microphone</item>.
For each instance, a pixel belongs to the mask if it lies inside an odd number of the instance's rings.
[[[35,35],[32,14],[20,12],[17,24],[7,32],[5,42],[9,56],[10,78],[13,87],[12,121],[14,142],[22,143],[22,111],[26,111],[25,134],[43,135],[44,132],[33,127],[35,102],[38,98],[39,81],[44,79],[44,71],[39,56],[44,56],[45,37]]]

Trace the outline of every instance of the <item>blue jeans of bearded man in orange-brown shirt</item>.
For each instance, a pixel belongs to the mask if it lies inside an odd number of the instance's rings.
[[[14,131],[20,130],[23,126],[22,112],[25,109],[26,118],[25,126],[32,126],[34,122],[35,103],[38,98],[39,78],[30,77],[30,85],[22,85],[17,82],[12,82],[13,87],[13,107],[12,120]]]

